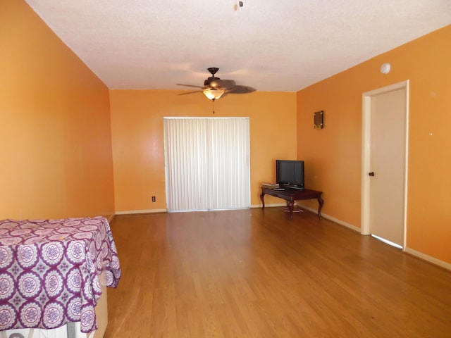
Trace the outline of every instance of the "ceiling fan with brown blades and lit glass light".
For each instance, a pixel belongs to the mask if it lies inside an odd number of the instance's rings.
[[[177,83],[178,86],[195,87],[200,88],[201,90],[182,93],[179,95],[187,95],[202,92],[204,93],[207,99],[215,101],[221,97],[226,96],[227,94],[247,94],[255,92],[256,90],[255,88],[252,87],[237,85],[233,80],[221,80],[219,77],[215,76],[219,68],[211,67],[207,68],[207,70],[210,72],[211,77],[207,78],[204,81],[204,87],[194,86],[192,84]]]

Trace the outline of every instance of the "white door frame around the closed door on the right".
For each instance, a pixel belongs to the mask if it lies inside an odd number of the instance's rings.
[[[362,220],[361,234],[371,234],[369,208],[370,208],[370,158],[371,158],[371,100],[373,96],[381,95],[387,92],[393,92],[397,89],[405,89],[406,111],[405,111],[405,149],[404,149],[404,210],[403,210],[403,240],[402,251],[406,249],[407,238],[407,168],[408,168],[408,149],[409,149],[409,80],[390,84],[389,86],[364,92],[362,94]]]

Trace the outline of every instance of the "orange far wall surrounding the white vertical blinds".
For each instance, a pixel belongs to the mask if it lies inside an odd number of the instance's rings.
[[[111,91],[116,212],[166,208],[164,116],[248,116],[251,204],[260,204],[261,182],[276,179],[276,158],[296,157],[296,94],[230,94],[215,102],[215,114],[213,103],[201,93],[178,94],[171,90]],[[152,196],[156,196],[155,203]],[[268,196],[265,202],[280,200]]]

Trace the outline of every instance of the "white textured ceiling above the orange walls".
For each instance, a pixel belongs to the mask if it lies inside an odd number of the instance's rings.
[[[110,89],[295,92],[451,24],[451,0],[26,0]],[[451,42],[450,42],[451,43]]]

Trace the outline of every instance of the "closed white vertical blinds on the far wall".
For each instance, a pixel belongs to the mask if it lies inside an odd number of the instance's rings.
[[[250,207],[249,118],[164,118],[168,211]]]

